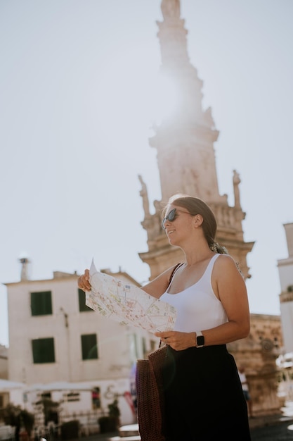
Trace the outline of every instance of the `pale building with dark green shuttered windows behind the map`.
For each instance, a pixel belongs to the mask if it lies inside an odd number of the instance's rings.
[[[103,272],[138,286],[126,273]],[[31,410],[45,391],[46,397],[58,395],[63,402],[64,420],[70,419],[65,417],[70,411],[98,408],[100,414],[107,413],[117,397],[121,423],[132,423],[131,375],[133,383],[136,360],[156,349],[159,340],[89,309],[77,278],[76,273],[55,272],[49,280],[23,276],[6,284],[8,379],[25,383]]]

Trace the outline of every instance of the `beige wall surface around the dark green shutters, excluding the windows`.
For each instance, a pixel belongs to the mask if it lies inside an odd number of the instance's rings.
[[[143,338],[147,349],[151,340],[157,340],[145,330],[120,325],[95,311],[79,312],[77,275],[7,286],[10,380],[32,385],[128,378],[136,357],[143,357]],[[52,315],[32,316],[30,292],[47,290],[52,292]],[[81,335],[91,333],[97,335],[98,359],[82,360]],[[137,354],[131,352],[134,335]],[[34,364],[32,340],[45,337],[54,338],[56,362]]]

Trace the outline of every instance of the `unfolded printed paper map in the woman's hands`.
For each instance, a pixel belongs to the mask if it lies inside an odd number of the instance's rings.
[[[92,261],[89,270],[91,291],[86,305],[102,316],[124,325],[133,325],[156,333],[172,330],[176,309],[150,296],[141,288],[127,285],[111,275],[100,273]]]

